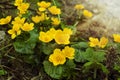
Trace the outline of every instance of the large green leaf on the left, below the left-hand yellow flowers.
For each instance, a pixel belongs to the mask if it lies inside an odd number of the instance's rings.
[[[14,42],[13,45],[17,52],[23,54],[32,54],[34,52],[34,48],[38,40],[38,34],[36,30],[30,31],[29,34],[30,37],[27,40],[23,41],[22,39],[18,39]]]

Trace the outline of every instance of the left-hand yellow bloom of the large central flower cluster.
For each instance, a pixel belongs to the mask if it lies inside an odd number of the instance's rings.
[[[54,28],[51,28],[46,33],[41,31],[40,36],[39,36],[39,40],[48,43],[54,39],[55,33],[56,33],[56,30]]]

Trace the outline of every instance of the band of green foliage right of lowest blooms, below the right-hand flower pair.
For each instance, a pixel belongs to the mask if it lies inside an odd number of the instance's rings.
[[[103,62],[105,60],[104,51],[94,51],[92,48],[87,48],[86,51],[76,49],[75,61],[77,62]]]

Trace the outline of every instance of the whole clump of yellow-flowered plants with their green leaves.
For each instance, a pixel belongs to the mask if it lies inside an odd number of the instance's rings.
[[[78,21],[91,18],[92,12],[82,4],[76,4],[74,8],[78,18],[74,25],[67,25],[61,16],[64,13],[56,3],[56,0],[38,1],[35,9],[31,10],[30,3],[15,0],[16,16],[0,19],[0,27],[7,26],[6,32],[23,62],[44,69],[53,79],[74,80],[79,75],[80,79],[108,80],[110,66],[120,74],[119,63],[107,65],[109,55],[114,54],[116,59],[113,61],[119,61],[120,35],[113,34],[112,40],[105,36],[90,36],[89,40],[77,37]],[[111,53],[111,47],[115,52]],[[1,67],[0,75],[6,74],[9,72]],[[115,76],[119,80],[120,76]]]

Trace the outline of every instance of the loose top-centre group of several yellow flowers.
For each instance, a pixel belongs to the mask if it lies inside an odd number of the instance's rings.
[[[61,21],[57,17],[55,17],[55,15],[61,14],[61,10],[59,8],[57,8],[56,6],[51,6],[51,3],[46,1],[38,2],[37,5],[39,6],[37,12],[39,15],[32,17],[33,22],[39,23],[40,21],[51,19],[51,23],[54,26],[60,24]],[[52,15],[54,15],[54,17],[48,17],[48,13],[51,13]]]

